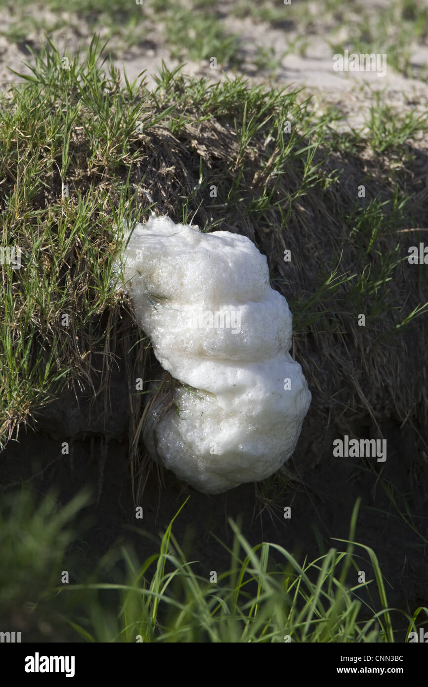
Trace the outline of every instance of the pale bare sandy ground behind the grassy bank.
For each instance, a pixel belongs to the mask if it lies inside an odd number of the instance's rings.
[[[381,3],[368,3],[371,10],[376,12],[376,7]],[[37,49],[44,40],[45,27],[52,27],[47,32],[49,38],[60,50],[72,55],[77,52],[78,46],[89,45],[95,30],[106,38],[109,29],[97,23],[89,26],[76,14],[60,12],[54,14],[43,5],[30,5],[26,8],[27,16],[33,15],[34,20],[43,12],[43,28],[33,27],[25,39],[14,42],[5,35],[0,36],[0,84],[7,89],[11,82],[19,80],[12,74],[8,67],[22,73],[29,70],[23,62],[33,63],[34,58],[28,51],[27,45]],[[225,5],[227,13],[227,5]],[[170,56],[168,36],[164,27],[156,21],[155,16],[145,18],[145,35],[148,36],[143,43],[133,47],[124,47],[120,36],[113,36],[109,43],[109,51],[113,55],[115,65],[126,70],[128,78],[134,80],[142,72],[146,71],[148,84],[153,84],[153,74],[161,67],[162,60],[167,67],[176,67],[179,64],[177,58]],[[2,32],[8,33],[10,27],[17,23],[17,17],[13,8],[0,10],[0,25]],[[32,23],[30,23],[32,25]],[[339,36],[341,27],[339,29]],[[212,81],[229,77],[236,73],[243,73],[252,82],[267,83],[284,87],[304,87],[302,98],[313,95],[315,108],[324,110],[326,106],[335,106],[341,113],[343,120],[337,124],[337,128],[348,126],[359,127],[363,125],[368,108],[374,102],[374,93],[380,91],[381,102],[391,105],[397,111],[417,109],[427,110],[427,84],[418,78],[405,78],[396,73],[387,65],[386,75],[378,76],[375,71],[340,72],[333,69],[333,52],[323,35],[322,22],[311,27],[311,33],[304,36],[306,51],[299,54],[296,49],[290,54],[285,54],[295,39],[303,36],[287,28],[275,28],[268,23],[255,23],[250,17],[237,19],[227,16],[227,32],[240,36],[240,52],[243,55],[243,63],[239,69],[231,71],[221,64],[221,56],[218,56],[217,68],[210,68],[209,60],[196,63],[186,60],[183,71],[196,76],[206,76]],[[16,41],[16,38],[15,38]],[[275,66],[271,69],[260,69],[256,65],[256,54],[260,47],[273,51]],[[412,46],[412,67],[418,73],[428,63],[426,45],[415,44]]]

